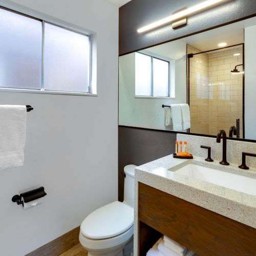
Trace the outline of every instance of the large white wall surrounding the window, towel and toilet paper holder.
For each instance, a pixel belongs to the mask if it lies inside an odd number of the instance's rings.
[[[34,108],[28,113],[24,166],[0,172],[0,255],[18,256],[117,200],[118,8],[105,0],[0,4],[31,8],[97,37],[97,97],[0,92],[0,104]],[[22,210],[11,202],[13,195],[38,186],[47,193],[41,205]]]

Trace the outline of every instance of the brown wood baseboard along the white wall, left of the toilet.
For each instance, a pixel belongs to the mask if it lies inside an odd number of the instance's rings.
[[[63,234],[61,237],[56,238],[55,240],[39,247],[25,256],[57,256],[79,243],[79,231],[80,226],[72,229],[71,231]]]

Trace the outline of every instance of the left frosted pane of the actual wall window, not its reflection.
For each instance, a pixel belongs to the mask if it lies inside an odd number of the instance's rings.
[[[42,24],[0,9],[0,87],[41,88]]]

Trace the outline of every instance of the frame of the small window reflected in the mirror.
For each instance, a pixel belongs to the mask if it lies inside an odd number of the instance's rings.
[[[136,95],[136,90],[135,90],[135,98],[154,98],[154,99],[157,99],[157,98],[172,98],[171,96],[171,70],[172,70],[172,60],[169,59],[169,58],[166,58],[166,57],[162,57],[158,54],[155,54],[155,53],[152,53],[152,52],[149,52],[147,50],[142,50],[142,51],[138,51],[138,52],[135,52],[135,54],[138,53],[138,54],[144,54],[146,56],[149,56],[151,57],[151,92],[152,92],[152,95]],[[154,64],[153,64],[153,59],[159,59],[159,60],[162,60],[162,61],[165,61],[168,63],[168,96],[154,96]],[[135,60],[135,72],[136,72],[136,60]],[[136,87],[136,81],[135,81],[135,87]]]

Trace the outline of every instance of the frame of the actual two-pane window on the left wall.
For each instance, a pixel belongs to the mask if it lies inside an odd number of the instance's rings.
[[[13,9],[10,9],[8,7],[4,7],[0,5],[0,9],[13,12],[18,15],[22,15],[31,19],[38,20],[41,22],[42,26],[42,38],[41,38],[41,83],[40,83],[40,89],[27,89],[27,88],[8,88],[8,87],[0,87],[0,92],[21,92],[21,93],[41,93],[41,94],[62,94],[62,95],[84,95],[84,96],[97,96],[96,93],[92,93],[92,37],[90,33],[87,33],[86,31],[79,31],[74,28],[71,28],[71,26],[67,25],[61,25],[59,23],[54,23],[52,20],[46,19],[46,18],[38,18],[35,16],[28,15],[23,12],[19,12]],[[45,39],[45,23],[51,24],[53,26],[66,29],[84,36],[87,36],[89,38],[89,86],[88,86],[88,92],[73,92],[73,91],[54,91],[54,90],[45,90],[44,89],[44,39]]]

